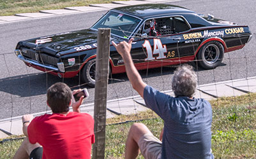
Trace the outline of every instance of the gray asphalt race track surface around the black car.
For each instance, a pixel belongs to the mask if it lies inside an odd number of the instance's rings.
[[[210,13],[216,18],[245,24],[250,27],[252,33],[256,32],[256,1],[186,0],[171,4],[184,6],[196,13],[204,15]],[[88,28],[105,12],[94,11],[0,24],[0,120],[11,116],[49,110],[46,105],[45,93],[47,88],[57,81],[64,81],[71,87],[79,85],[78,77],[61,79],[26,67],[13,53],[17,42],[49,34]],[[256,37],[254,34],[252,41],[242,50],[225,53],[222,66],[207,71],[199,68],[197,71],[199,84],[256,76],[255,45]],[[170,79],[174,69],[175,67],[149,69],[148,71],[140,71],[140,74],[147,84],[159,90],[170,90]],[[114,80],[109,81],[108,100],[137,95],[132,90],[126,74],[116,74],[112,78]],[[93,102],[94,88],[88,90],[90,97],[86,102]]]

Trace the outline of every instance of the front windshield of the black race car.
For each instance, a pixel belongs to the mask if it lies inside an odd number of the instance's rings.
[[[129,38],[139,25],[140,21],[141,20],[139,18],[109,11],[109,13],[102,17],[91,28],[110,28],[112,34],[121,36],[123,38]]]

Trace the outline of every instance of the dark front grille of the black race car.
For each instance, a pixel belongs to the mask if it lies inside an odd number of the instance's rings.
[[[29,48],[21,48],[22,55],[26,57],[27,59],[36,60],[40,62],[40,64],[48,64],[51,66],[57,66],[57,62],[59,62],[59,58],[52,57],[50,55],[47,55],[46,53],[41,52],[38,53],[38,58],[36,58],[36,51],[31,50]]]

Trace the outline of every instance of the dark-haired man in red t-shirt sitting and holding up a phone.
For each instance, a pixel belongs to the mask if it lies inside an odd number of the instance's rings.
[[[74,90],[74,93],[80,90]],[[47,105],[52,114],[33,119],[22,116],[23,132],[27,137],[13,158],[91,158],[94,143],[94,120],[80,113],[84,96],[72,104],[72,91],[64,83],[55,83],[47,90]],[[69,111],[72,105],[73,112]]]

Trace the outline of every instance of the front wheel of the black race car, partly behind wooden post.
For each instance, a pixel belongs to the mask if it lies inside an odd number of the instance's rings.
[[[111,69],[109,66],[109,76],[111,74]],[[96,59],[89,60],[86,65],[82,68],[81,74],[82,81],[86,83],[88,86],[95,86],[95,78],[96,78]]]

